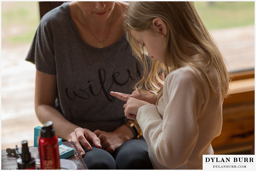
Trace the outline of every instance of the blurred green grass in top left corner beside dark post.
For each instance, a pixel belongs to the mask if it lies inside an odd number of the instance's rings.
[[[38,2],[1,2],[2,44],[31,43],[39,24]]]

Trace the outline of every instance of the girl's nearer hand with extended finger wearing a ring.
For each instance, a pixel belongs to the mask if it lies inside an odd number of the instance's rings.
[[[130,95],[128,96],[128,94],[113,92],[113,91],[111,91],[110,94],[122,101],[127,100],[126,104],[123,106],[125,108],[124,112],[127,119],[136,120],[136,116],[139,108],[143,105],[150,104],[149,102],[145,102],[145,101],[130,97]]]

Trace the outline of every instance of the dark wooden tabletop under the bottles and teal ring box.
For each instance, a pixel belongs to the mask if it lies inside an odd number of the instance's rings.
[[[74,142],[68,141],[68,142],[63,142],[62,144],[74,149],[74,155],[71,157],[68,157],[67,159],[72,160],[77,165],[77,169],[79,170],[88,169],[77,147],[75,146]],[[21,148],[19,148],[19,151],[21,152]],[[34,157],[35,159],[39,159],[39,153],[38,153],[37,147],[31,146],[29,147],[29,151],[31,153],[31,157]],[[16,155],[7,154],[6,150],[2,150],[1,154],[2,154],[1,169],[12,169],[12,170],[18,169]]]

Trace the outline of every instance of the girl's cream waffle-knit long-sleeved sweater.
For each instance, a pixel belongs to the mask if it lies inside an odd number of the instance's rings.
[[[208,94],[209,87],[205,93],[198,75],[186,66],[168,74],[158,105],[139,108],[137,121],[154,169],[202,169],[203,155],[213,155],[211,140],[221,132],[223,99],[216,70],[208,74],[217,97]]]

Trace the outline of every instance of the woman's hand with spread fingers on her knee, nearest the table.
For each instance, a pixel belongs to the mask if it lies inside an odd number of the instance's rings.
[[[82,157],[85,155],[85,151],[83,150],[81,144],[88,151],[91,150],[90,143],[93,143],[97,148],[101,148],[101,140],[97,137],[97,135],[86,128],[76,128],[75,131],[70,134],[69,141],[73,141],[75,143]]]

